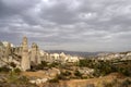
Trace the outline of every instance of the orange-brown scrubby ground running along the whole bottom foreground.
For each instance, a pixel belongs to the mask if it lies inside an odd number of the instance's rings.
[[[43,71],[23,72],[20,75],[0,73],[0,87],[131,87],[131,77],[119,73],[87,79],[66,79],[59,82],[46,82],[43,84],[31,84],[27,78],[46,77]]]

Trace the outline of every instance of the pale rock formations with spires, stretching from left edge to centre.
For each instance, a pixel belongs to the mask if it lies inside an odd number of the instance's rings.
[[[10,42],[0,42],[0,66],[8,63],[15,63],[19,69],[26,71],[31,69],[32,64],[40,64],[41,61],[46,62],[78,62],[79,57],[62,53],[47,53],[39,49],[37,44],[33,42],[28,48],[27,37],[23,37],[22,44],[14,47]]]

